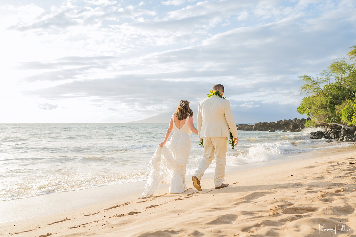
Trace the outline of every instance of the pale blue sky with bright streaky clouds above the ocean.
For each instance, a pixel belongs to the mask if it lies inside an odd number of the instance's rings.
[[[302,118],[356,44],[354,0],[1,0],[0,123],[123,123],[225,86],[236,123]],[[305,116],[304,116],[305,117]]]

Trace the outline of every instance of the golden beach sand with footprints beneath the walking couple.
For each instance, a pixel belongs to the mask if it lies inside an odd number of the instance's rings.
[[[355,171],[350,146],[229,168],[223,189],[206,174],[201,192],[187,177],[184,193],[161,185],[148,199],[137,199],[144,182],[46,194],[3,202],[0,236],[351,237]]]

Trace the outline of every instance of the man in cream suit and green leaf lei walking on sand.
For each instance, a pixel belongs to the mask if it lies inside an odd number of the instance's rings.
[[[214,90],[219,90],[224,95],[224,86],[216,84]],[[200,160],[198,170],[192,177],[194,188],[201,191],[200,180],[206,168],[216,156],[215,189],[229,186],[224,184],[227,140],[230,137],[229,128],[234,136],[235,145],[239,142],[237,128],[232,117],[230,102],[217,95],[213,95],[199,103],[198,109],[198,133],[204,143],[204,156]]]

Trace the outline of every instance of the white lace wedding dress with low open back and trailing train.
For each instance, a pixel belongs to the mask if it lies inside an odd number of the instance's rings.
[[[183,193],[187,189],[184,178],[192,147],[188,118],[184,125],[178,128],[174,123],[174,115],[172,116],[173,135],[163,147],[158,146],[153,154],[149,163],[151,171],[140,198],[151,197],[159,183],[169,183],[169,194]]]

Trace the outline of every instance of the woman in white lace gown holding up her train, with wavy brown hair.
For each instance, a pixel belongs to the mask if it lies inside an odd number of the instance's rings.
[[[151,171],[139,198],[151,197],[159,183],[169,183],[169,194],[183,193],[187,189],[184,178],[192,147],[189,129],[198,134],[193,124],[193,111],[189,107],[189,101],[181,100],[169,122],[164,142],[159,143],[150,160]],[[172,138],[167,142],[172,131]]]

